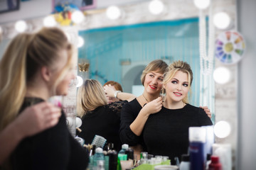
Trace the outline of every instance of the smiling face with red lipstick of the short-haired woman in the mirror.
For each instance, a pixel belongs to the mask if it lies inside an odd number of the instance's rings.
[[[153,71],[145,76],[144,89],[148,94],[160,94],[163,86],[163,74]]]

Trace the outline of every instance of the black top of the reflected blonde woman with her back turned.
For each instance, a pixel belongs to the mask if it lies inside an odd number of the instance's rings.
[[[113,102],[86,113],[82,116],[82,132],[77,135],[85,140],[85,144],[91,144],[95,135],[100,135],[107,142],[114,143],[114,149],[119,151],[122,147],[119,137],[120,112],[125,103],[127,101]]]

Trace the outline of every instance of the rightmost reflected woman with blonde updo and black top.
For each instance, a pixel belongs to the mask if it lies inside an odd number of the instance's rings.
[[[149,115],[144,125],[144,142],[149,154],[169,156],[181,160],[188,154],[188,128],[213,125],[202,108],[188,104],[188,91],[193,80],[191,67],[186,62],[173,62],[163,81],[166,91],[163,108]]]

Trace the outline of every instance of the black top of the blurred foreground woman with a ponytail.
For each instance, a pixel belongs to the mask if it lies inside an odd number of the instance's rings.
[[[21,111],[42,101],[41,98],[25,98]],[[57,125],[26,137],[11,155],[13,169],[85,170],[88,162],[87,151],[70,134],[63,111]]]

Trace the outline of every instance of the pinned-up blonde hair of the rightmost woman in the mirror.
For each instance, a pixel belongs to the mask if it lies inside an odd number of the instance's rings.
[[[176,61],[173,62],[169,65],[168,67],[169,71],[166,72],[164,74],[164,81],[163,84],[166,85],[169,81],[171,81],[171,79],[174,78],[174,75],[176,74],[176,72],[181,71],[184,72],[186,74],[188,74],[188,89],[191,93],[191,84],[193,81],[193,72],[192,69],[190,67],[190,65],[187,62],[183,62],[183,61]],[[185,98],[183,98],[183,103],[188,103],[188,96],[186,96]]]

